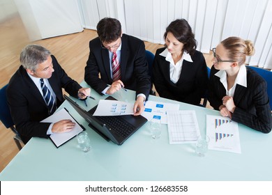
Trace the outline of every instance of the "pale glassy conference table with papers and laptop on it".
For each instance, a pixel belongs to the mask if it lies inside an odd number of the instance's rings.
[[[82,86],[87,86],[84,82]],[[95,91],[87,110],[106,98]],[[112,95],[117,100],[134,102],[134,91]],[[74,99],[76,100],[76,99]],[[192,106],[156,96],[149,100],[180,104],[182,110],[195,110],[202,135],[206,134],[206,115],[218,111]],[[84,102],[77,103],[85,107]],[[205,157],[195,154],[195,144],[169,144],[167,125],[162,136],[151,139],[148,123],[123,145],[105,141],[86,121],[64,102],[77,122],[84,125],[92,150],[83,153],[76,138],[56,148],[50,139],[32,138],[0,173],[0,180],[93,180],[93,181],[236,181],[272,180],[272,134],[262,134],[239,124],[241,154],[209,150]]]

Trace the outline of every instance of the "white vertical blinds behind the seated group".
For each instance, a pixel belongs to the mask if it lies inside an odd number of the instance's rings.
[[[177,18],[186,19],[204,53],[229,37],[239,36],[255,43],[250,65],[272,68],[272,1],[270,0],[81,0],[83,12],[96,29],[103,17],[116,17],[123,31],[164,44],[166,26]],[[98,2],[100,5],[98,5]],[[93,12],[93,9],[96,9]],[[91,15],[90,15],[91,13]]]

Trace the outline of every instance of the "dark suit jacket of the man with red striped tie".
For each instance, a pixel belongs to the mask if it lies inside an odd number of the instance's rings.
[[[146,99],[150,91],[149,68],[146,62],[144,42],[123,34],[121,38],[121,81],[125,88],[143,93]],[[89,42],[90,54],[85,68],[85,81],[95,91],[101,93],[107,84],[112,84],[109,51],[101,47],[99,38]],[[99,77],[100,73],[100,77]]]

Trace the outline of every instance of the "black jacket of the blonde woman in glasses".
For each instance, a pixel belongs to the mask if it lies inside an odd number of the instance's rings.
[[[232,114],[232,120],[259,132],[269,133],[272,128],[272,118],[266,81],[254,70],[248,67],[246,70],[247,87],[237,84],[234,91],[233,100],[236,109]],[[218,71],[214,67],[211,68],[209,81],[209,102],[217,110],[222,105],[222,98],[226,95],[220,78],[214,75]]]

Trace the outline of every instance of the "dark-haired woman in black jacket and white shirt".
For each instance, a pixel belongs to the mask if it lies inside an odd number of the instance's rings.
[[[157,49],[152,68],[156,91],[163,98],[199,105],[209,77],[190,25],[184,19],[174,20],[164,38],[165,47]]]

